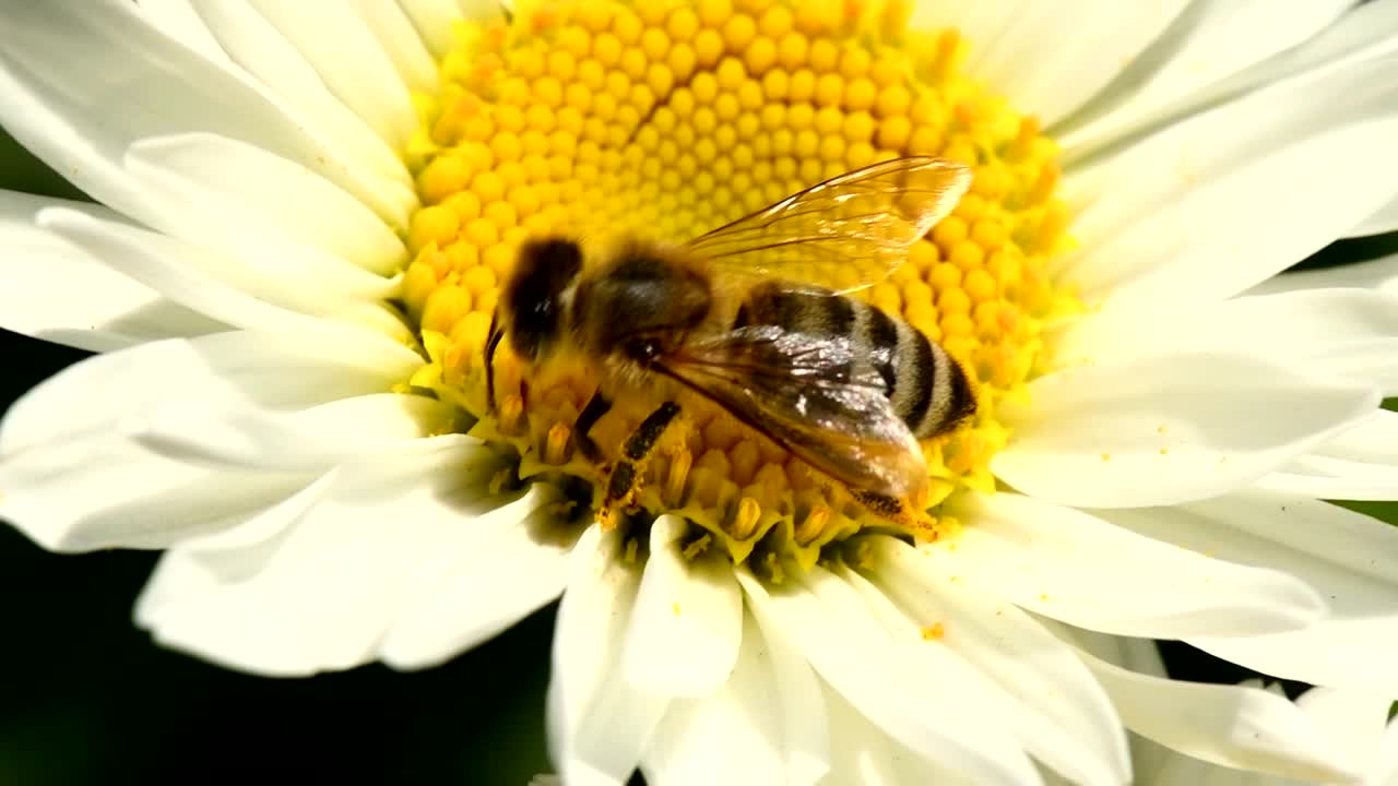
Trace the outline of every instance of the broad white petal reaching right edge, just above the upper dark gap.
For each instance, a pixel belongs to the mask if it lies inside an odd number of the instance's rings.
[[[1083,252],[1064,276],[1104,308],[1219,299],[1343,235],[1394,196],[1398,59],[1258,92],[1064,186]],[[1304,187],[1300,183],[1304,182]]]

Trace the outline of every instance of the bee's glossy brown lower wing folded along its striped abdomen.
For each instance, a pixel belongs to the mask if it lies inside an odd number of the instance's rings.
[[[816,470],[910,496],[927,484],[921,448],[857,361],[849,340],[765,324],[691,341],[657,368]]]

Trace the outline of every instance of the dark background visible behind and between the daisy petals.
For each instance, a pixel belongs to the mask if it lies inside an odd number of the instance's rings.
[[[81,197],[4,136],[0,187]],[[1306,264],[1395,250],[1398,235],[1349,241]],[[0,330],[0,408],[82,357]],[[1398,520],[1395,503],[1367,509]],[[136,629],[131,606],[154,562],[148,552],[48,554],[0,526],[0,785],[523,786],[549,769],[542,706],[552,608],[440,669],[266,680],[158,649]],[[1250,676],[1183,645],[1167,645],[1166,657],[1184,678]]]

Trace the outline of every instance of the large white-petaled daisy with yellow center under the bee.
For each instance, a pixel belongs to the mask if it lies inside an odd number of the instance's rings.
[[[98,203],[0,194],[0,324],[102,352],[6,414],[0,516],[164,550],[138,624],[259,674],[562,596],[569,785],[1127,783],[1128,731],[1355,780],[1290,702],[1120,657],[1398,695],[1398,533],[1324,502],[1398,498],[1398,295],[1274,278],[1398,227],[1398,3],[1352,6],[0,3],[0,123]],[[717,408],[603,526],[589,369],[503,351],[487,407],[523,242],[906,155],[974,173],[861,295],[974,380],[916,537]]]

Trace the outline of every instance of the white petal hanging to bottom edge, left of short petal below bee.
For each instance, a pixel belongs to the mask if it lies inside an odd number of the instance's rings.
[[[630,688],[619,669],[639,583],[619,533],[590,527],[558,607],[548,685],[549,758],[569,786],[625,783],[670,703]]]

